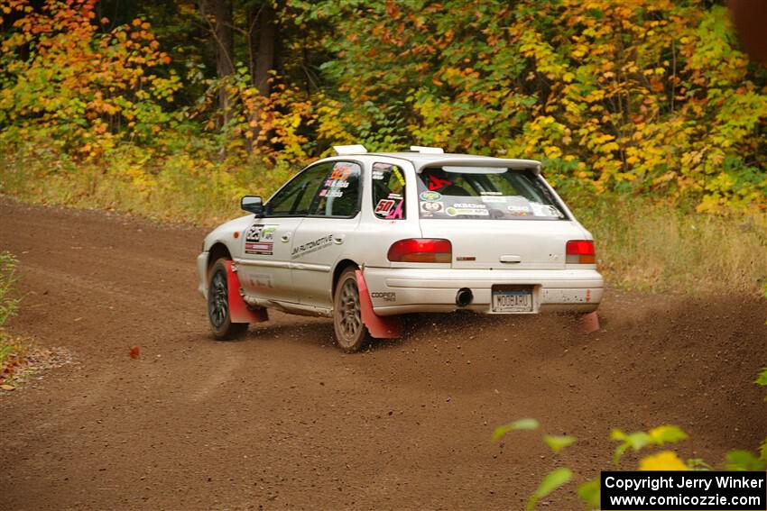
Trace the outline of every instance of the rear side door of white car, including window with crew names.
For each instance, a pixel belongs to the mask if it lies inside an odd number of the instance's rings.
[[[330,162],[291,250],[293,287],[302,304],[331,306],[332,269],[359,225],[361,197],[362,166],[354,161]]]

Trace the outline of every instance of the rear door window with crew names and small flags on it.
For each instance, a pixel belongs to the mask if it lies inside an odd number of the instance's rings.
[[[326,175],[311,205],[312,216],[352,217],[359,213],[362,169],[350,161],[329,163]]]

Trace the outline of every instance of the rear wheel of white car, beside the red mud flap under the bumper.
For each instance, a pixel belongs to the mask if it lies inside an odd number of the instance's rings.
[[[367,328],[362,322],[362,306],[356,284],[355,268],[345,269],[333,293],[333,328],[342,350],[361,350],[367,343]]]

